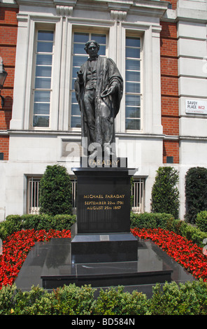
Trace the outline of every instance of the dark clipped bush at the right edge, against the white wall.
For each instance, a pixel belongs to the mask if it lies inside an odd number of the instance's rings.
[[[197,214],[207,210],[207,169],[204,167],[190,168],[185,176],[185,219],[195,223]]]

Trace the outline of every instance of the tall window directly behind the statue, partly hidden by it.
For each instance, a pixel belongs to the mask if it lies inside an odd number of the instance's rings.
[[[85,52],[85,43],[89,40],[96,40],[99,45],[99,55],[106,55],[106,34],[95,33],[81,33],[74,32],[73,34],[73,73],[72,73],[72,88],[74,87],[75,80],[77,78],[77,71],[80,66],[87,60],[88,55]],[[76,94],[74,90],[71,90],[71,128],[80,128],[80,109],[76,100]]]

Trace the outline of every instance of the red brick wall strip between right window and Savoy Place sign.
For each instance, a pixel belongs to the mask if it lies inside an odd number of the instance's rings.
[[[171,1],[173,7],[176,1]],[[178,52],[177,26],[173,22],[161,22],[160,61],[161,61],[161,99],[162,126],[166,135],[163,146],[163,162],[173,157],[173,163],[179,163],[179,141],[168,140],[168,136],[179,135],[178,109]]]

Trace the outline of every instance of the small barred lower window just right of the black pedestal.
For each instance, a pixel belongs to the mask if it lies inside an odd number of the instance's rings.
[[[134,179],[134,185],[131,188],[131,196],[133,197],[132,211],[137,213],[144,211],[144,192],[145,180]]]

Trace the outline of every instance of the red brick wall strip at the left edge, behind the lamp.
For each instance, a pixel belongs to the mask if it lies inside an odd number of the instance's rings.
[[[15,54],[17,44],[17,12],[18,8],[0,7],[0,56],[8,73],[1,94],[5,97],[3,109],[0,102],[0,130],[8,130],[13,106],[13,84],[15,74]],[[1,135],[0,153],[3,160],[8,160],[9,137]]]

